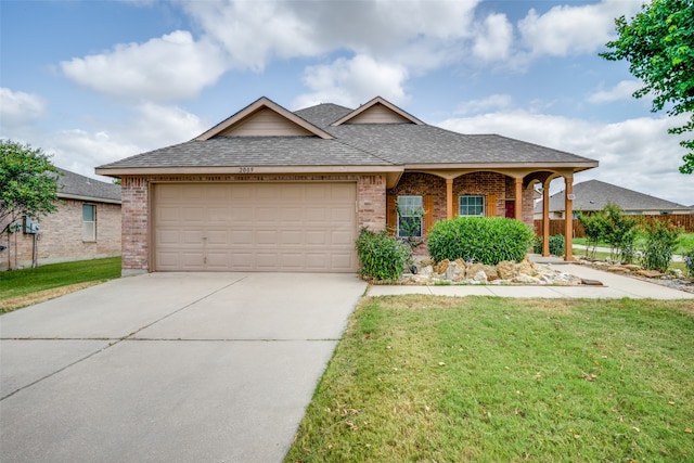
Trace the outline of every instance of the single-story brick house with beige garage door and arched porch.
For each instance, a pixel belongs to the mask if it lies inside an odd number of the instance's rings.
[[[506,216],[597,162],[423,123],[377,97],[291,112],[261,98],[194,140],[97,168],[123,181],[123,271],[354,272],[362,227]],[[570,207],[570,200],[567,200]],[[417,219],[415,219],[417,220]],[[549,248],[549,245],[548,245]],[[570,259],[570,250],[567,255]]]

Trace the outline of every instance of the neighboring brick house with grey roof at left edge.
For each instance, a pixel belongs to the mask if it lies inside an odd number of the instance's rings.
[[[0,270],[120,255],[120,187],[57,170],[57,210],[2,236]]]

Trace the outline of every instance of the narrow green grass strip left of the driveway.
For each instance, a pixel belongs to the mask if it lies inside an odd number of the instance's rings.
[[[0,272],[0,301],[86,282],[120,278],[120,257],[51,263],[35,269]],[[16,307],[15,307],[16,308]],[[7,311],[0,308],[0,313]]]

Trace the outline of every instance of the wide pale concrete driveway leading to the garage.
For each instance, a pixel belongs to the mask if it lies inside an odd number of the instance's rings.
[[[152,273],[0,317],[3,462],[279,462],[354,274]]]

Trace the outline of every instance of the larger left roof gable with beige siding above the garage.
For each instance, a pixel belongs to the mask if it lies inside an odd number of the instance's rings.
[[[195,140],[214,137],[333,137],[306,119],[262,97]]]

